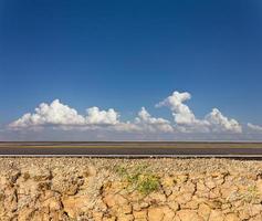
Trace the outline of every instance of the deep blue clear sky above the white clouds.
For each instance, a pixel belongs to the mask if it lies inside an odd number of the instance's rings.
[[[2,130],[56,98],[82,115],[114,108],[123,122],[145,106],[177,125],[176,110],[155,108],[175,91],[191,94],[198,118],[216,107],[260,126],[261,11],[260,0],[2,0]]]

